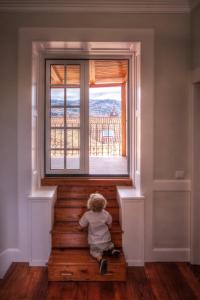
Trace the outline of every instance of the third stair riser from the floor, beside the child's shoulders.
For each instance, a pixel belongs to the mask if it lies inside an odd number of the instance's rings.
[[[112,215],[113,221],[119,221],[119,209],[108,208],[108,212]],[[80,208],[55,208],[55,221],[79,221],[83,213],[86,211],[84,207]]]

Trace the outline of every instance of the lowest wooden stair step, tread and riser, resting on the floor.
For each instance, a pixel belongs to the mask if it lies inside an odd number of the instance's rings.
[[[124,255],[108,258],[108,273],[101,275],[99,265],[85,249],[53,250],[48,262],[49,281],[125,281]]]

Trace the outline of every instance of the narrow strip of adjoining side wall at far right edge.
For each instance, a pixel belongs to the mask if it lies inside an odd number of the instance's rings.
[[[200,4],[191,13],[192,72],[191,72],[191,156],[192,156],[192,262],[200,264]]]

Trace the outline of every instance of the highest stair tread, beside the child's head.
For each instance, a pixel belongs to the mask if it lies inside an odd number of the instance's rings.
[[[58,199],[55,207],[87,207],[87,199]],[[107,207],[118,207],[117,200],[109,199]]]

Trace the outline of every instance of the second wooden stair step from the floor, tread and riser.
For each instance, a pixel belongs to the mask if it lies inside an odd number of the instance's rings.
[[[87,231],[81,231],[77,222],[56,222],[52,230],[52,248],[88,248]],[[122,230],[118,222],[111,228],[112,241],[122,247]]]

